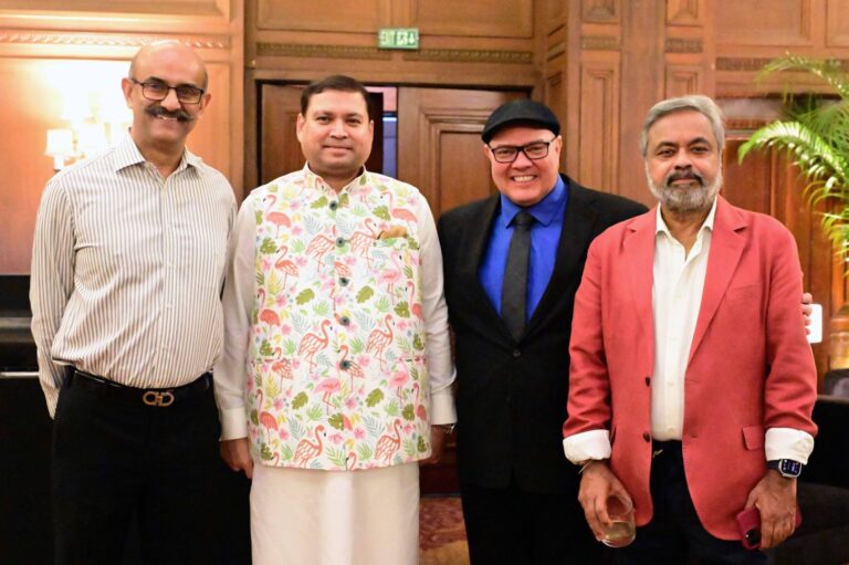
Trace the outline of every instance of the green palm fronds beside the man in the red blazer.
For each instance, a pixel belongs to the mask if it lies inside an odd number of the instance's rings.
[[[807,179],[805,195],[811,205],[829,202],[822,229],[840,254],[849,258],[849,75],[837,61],[787,55],[769,62],[758,75],[806,72],[831,87],[839,100],[817,94],[785,92],[787,118],[752,134],[741,146],[740,160],[755,149],[786,153]]]

